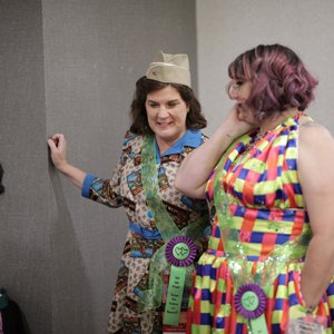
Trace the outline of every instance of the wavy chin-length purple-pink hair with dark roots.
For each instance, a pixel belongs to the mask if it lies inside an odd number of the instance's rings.
[[[299,57],[281,45],[259,45],[239,55],[228,67],[234,80],[252,82],[246,107],[259,117],[297,107],[304,110],[314,99],[317,79],[305,68]],[[230,82],[227,86],[229,95]]]

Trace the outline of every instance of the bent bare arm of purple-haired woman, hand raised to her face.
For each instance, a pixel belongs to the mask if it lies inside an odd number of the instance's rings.
[[[217,131],[202,146],[189,154],[181,163],[175,187],[193,198],[205,198],[205,185],[228,146],[252,126],[243,121],[243,116],[235,105]]]

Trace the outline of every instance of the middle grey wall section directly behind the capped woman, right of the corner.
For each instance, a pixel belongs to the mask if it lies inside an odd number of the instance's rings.
[[[135,82],[153,57],[189,53],[196,82],[195,3],[42,3],[47,132],[66,134],[70,161],[108,178],[129,126]],[[122,208],[81,198],[52,169],[50,178],[52,333],[105,333],[128,220]]]

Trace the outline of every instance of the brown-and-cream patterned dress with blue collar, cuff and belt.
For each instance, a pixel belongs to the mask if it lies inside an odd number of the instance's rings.
[[[181,160],[204,140],[205,136],[199,130],[187,130],[164,155],[159,154],[158,146],[155,144],[160,197],[179,229],[193,224],[199,217],[207,216],[205,200],[190,199],[174,187]],[[87,175],[82,186],[82,196],[110,207],[124,206],[128,217],[129,230],[117,276],[108,333],[148,334],[163,333],[163,331],[185,333],[188,299],[184,302],[179,326],[163,328],[164,304],[155,311],[144,313],[138,311],[138,296],[148,288],[151,257],[165,244],[143,191],[141,148],[143,137],[128,131],[112,178],[104,179]],[[208,218],[207,225],[209,225]],[[196,244],[198,259],[207,244],[205,238]],[[168,273],[166,275],[165,284],[168,283]]]

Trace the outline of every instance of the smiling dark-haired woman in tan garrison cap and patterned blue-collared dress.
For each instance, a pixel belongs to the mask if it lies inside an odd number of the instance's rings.
[[[48,140],[51,158],[82,196],[110,207],[124,206],[129,219],[108,333],[185,333],[194,265],[187,266],[176,323],[163,324],[170,265],[161,250],[168,239],[181,235],[195,242],[198,258],[209,225],[206,202],[186,197],[174,187],[181,160],[205,140],[200,129],[206,119],[190,86],[186,55],[157,56],[136,84],[131,118],[111,179],[68,164],[61,134]]]

